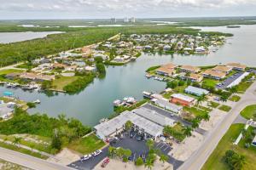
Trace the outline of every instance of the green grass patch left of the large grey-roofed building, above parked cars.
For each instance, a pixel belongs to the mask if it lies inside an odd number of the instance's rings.
[[[101,149],[104,145],[105,143],[101,139],[98,139],[96,135],[91,134],[85,138],[73,140],[73,142],[68,144],[67,147],[85,155]]]

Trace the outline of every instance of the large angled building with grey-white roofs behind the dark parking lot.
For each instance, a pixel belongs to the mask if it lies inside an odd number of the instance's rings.
[[[157,111],[144,107],[133,111],[124,111],[113,119],[96,125],[96,135],[100,139],[108,139],[125,129],[125,122],[131,121],[134,130],[144,138],[157,139],[163,133],[164,126],[173,127],[176,121],[168,116],[163,116]]]

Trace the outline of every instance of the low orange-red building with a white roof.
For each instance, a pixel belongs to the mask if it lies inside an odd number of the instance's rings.
[[[172,94],[170,102],[177,105],[190,106],[194,104],[195,99],[184,94]]]

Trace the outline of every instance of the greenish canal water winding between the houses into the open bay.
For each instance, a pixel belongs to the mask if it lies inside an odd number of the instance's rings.
[[[108,117],[113,112],[113,100],[125,96],[143,98],[143,91],[162,91],[166,84],[148,80],[145,70],[152,65],[173,62],[178,65],[216,65],[230,61],[256,66],[256,26],[241,26],[241,28],[204,27],[203,31],[223,31],[234,34],[228,42],[216,53],[208,55],[150,55],[143,54],[137,61],[124,66],[108,66],[104,79],[96,79],[83,92],[76,95],[59,94],[47,97],[36,92],[23,92],[21,89],[11,89],[20,99],[40,99],[41,104],[29,112],[47,113],[57,116],[65,113],[69,117],[78,118],[84,124],[94,126],[102,117]],[[0,88],[3,94],[6,88]]]

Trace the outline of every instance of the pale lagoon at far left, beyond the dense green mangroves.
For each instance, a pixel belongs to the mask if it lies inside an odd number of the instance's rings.
[[[41,32],[0,32],[0,43],[22,42],[35,38],[46,37],[49,34],[60,34],[61,31],[41,31]]]

